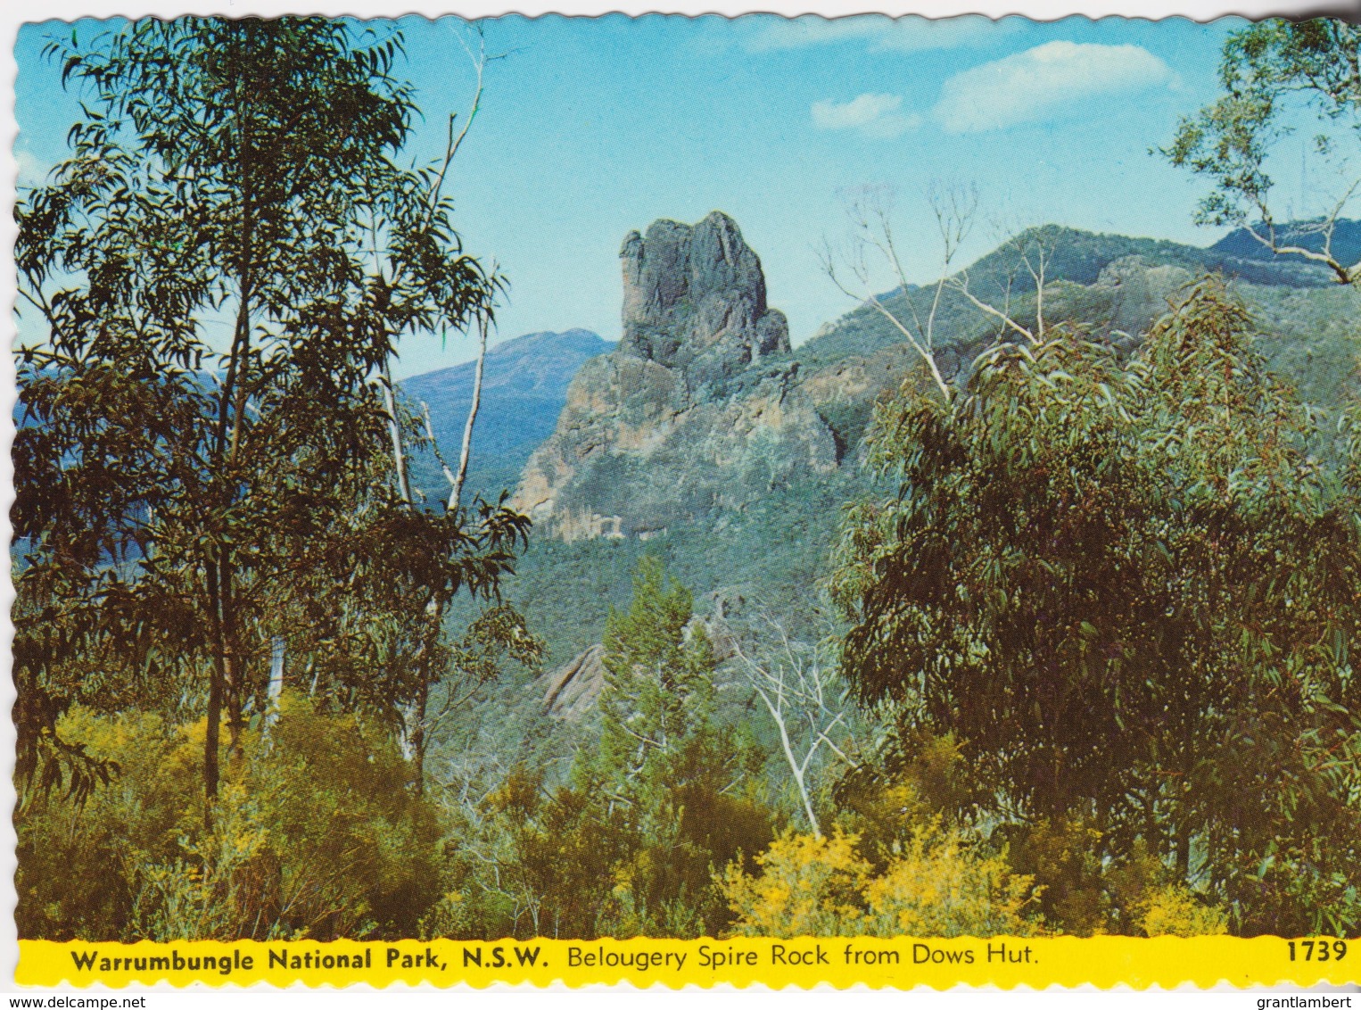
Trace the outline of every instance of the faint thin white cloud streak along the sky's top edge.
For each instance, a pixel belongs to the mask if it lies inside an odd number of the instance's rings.
[[[747,52],[804,49],[815,45],[866,42],[871,52],[915,53],[927,49],[955,49],[977,45],[989,35],[1010,29],[981,15],[932,20],[919,15],[887,18],[882,14],[852,18],[780,18],[755,22],[757,30],[743,39]]]

